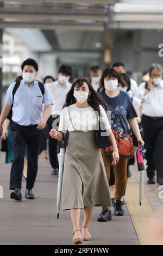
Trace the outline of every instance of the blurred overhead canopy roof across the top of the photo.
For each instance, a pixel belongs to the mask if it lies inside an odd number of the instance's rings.
[[[117,29],[162,29],[163,2],[0,0],[0,19],[0,28],[21,38],[34,51],[96,53],[111,41],[109,37],[106,39],[107,28],[115,32]],[[97,47],[97,42],[101,47]]]

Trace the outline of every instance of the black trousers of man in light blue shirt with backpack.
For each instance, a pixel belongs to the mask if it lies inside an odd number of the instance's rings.
[[[14,162],[11,166],[10,190],[21,189],[24,154],[27,145],[28,150],[28,172],[27,190],[32,190],[37,175],[40,144],[42,142],[42,130],[37,125],[22,126],[12,123],[12,138],[14,150]]]

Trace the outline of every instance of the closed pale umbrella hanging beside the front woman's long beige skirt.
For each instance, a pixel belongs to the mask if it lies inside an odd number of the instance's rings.
[[[62,142],[60,153],[58,154],[59,174],[58,174],[58,188],[57,188],[57,218],[59,218],[59,211],[60,211],[62,177],[64,173],[64,160],[65,160],[65,148],[64,148],[64,142]]]

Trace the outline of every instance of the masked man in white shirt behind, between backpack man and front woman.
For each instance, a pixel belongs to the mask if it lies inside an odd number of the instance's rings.
[[[71,66],[61,65],[58,70],[58,80],[52,83],[46,83],[46,86],[51,94],[54,105],[52,106],[52,113],[47,121],[48,129],[51,131],[54,121],[59,120],[62,107],[66,100],[66,95],[71,89],[71,83],[68,82],[72,75]],[[54,122],[54,123],[53,123]],[[58,143],[56,139],[49,136],[49,161],[52,166],[52,175],[58,174],[58,157],[57,157]]]

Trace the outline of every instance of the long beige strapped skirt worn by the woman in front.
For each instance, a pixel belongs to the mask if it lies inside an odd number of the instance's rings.
[[[111,206],[110,192],[95,131],[71,131],[65,154],[62,210]]]

